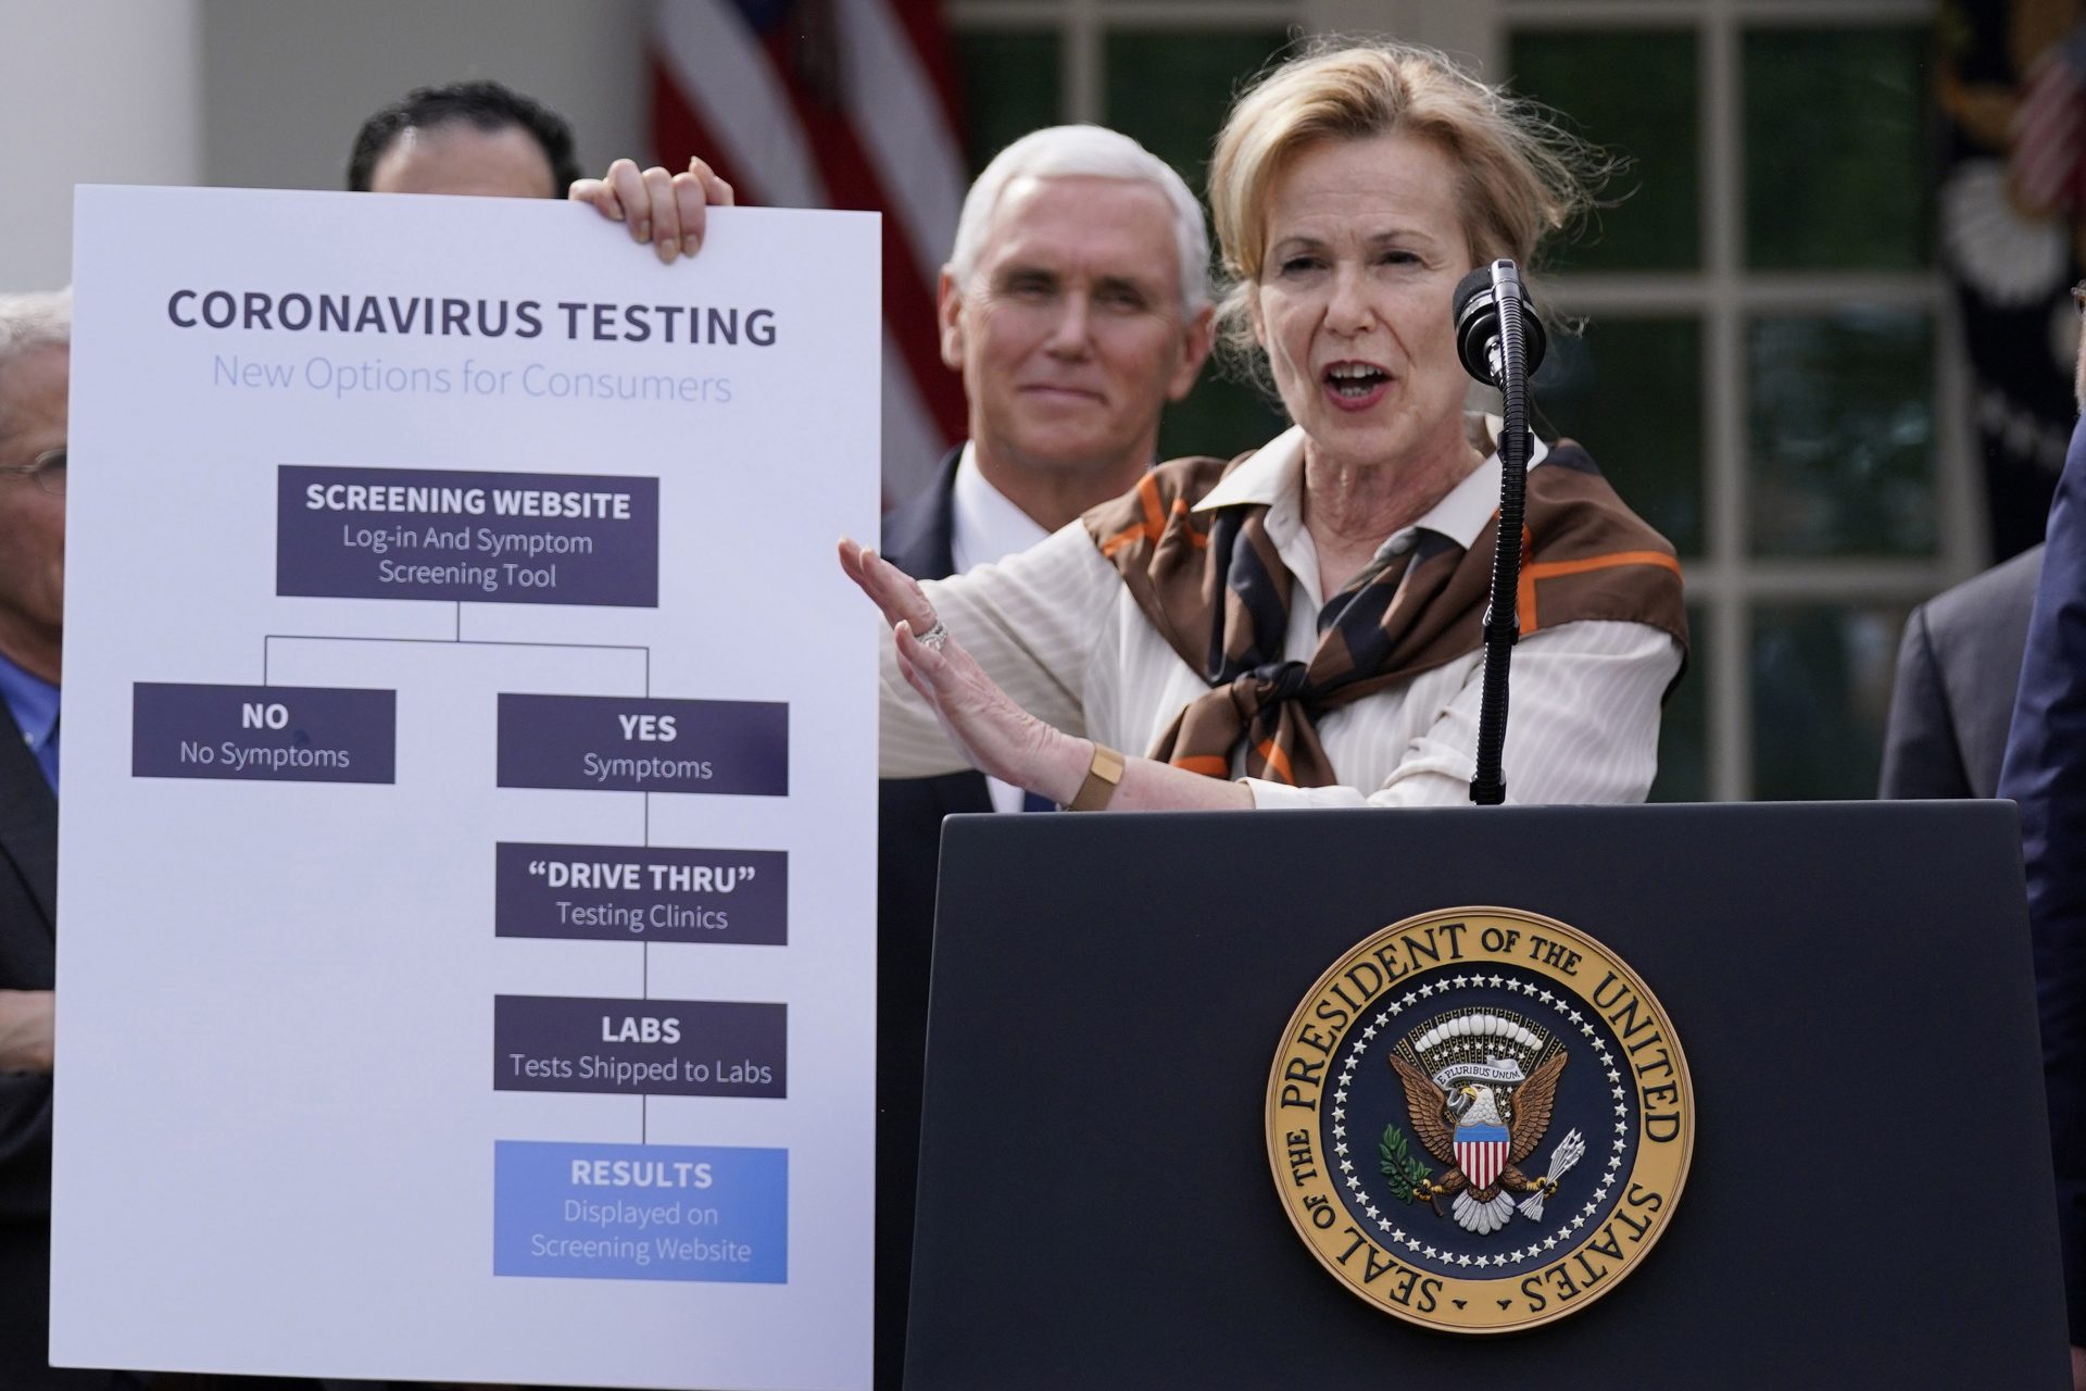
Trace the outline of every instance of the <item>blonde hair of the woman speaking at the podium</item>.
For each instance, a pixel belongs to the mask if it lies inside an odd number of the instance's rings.
[[[1247,304],[1268,248],[1277,175],[1320,140],[1431,140],[1456,165],[1471,265],[1512,257],[1529,269],[1544,242],[1573,227],[1612,171],[1533,102],[1491,88],[1448,54],[1391,40],[1318,40],[1268,69],[1233,102],[1210,161],[1210,215],[1222,250],[1218,327],[1256,355]]]

